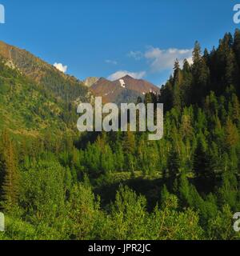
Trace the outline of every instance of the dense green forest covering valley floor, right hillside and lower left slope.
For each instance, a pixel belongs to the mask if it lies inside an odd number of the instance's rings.
[[[164,138],[148,141],[140,132],[78,136],[74,105],[67,118],[54,94],[27,90],[31,81],[2,62],[1,110],[11,106],[28,129],[33,113],[44,122],[27,137],[3,115],[0,239],[239,239],[239,70],[240,30],[210,52],[196,42],[193,64],[176,60],[161,94],[146,94],[165,108]],[[45,96],[26,106],[34,91]],[[47,102],[52,114],[38,107]],[[54,124],[65,129],[51,133]]]

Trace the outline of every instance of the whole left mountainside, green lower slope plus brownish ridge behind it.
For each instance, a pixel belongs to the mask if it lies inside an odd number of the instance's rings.
[[[78,79],[0,42],[0,130],[24,137],[75,134],[76,106],[91,95]]]

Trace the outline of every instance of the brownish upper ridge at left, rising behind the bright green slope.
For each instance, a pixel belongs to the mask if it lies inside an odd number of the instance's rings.
[[[74,101],[76,98],[86,100],[88,90],[83,82],[63,74],[28,51],[0,42],[0,56],[6,59],[8,66],[18,69],[56,97],[66,102]]]

